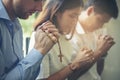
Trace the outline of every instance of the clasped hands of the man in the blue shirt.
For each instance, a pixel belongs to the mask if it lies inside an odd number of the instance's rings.
[[[34,48],[45,55],[58,41],[59,35],[58,29],[52,22],[43,23],[36,30]]]

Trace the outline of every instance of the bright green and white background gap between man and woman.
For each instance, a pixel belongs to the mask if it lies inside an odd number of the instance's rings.
[[[23,29],[24,56],[27,54],[27,50],[28,50],[28,46],[29,46],[29,40],[30,40],[30,36],[32,34],[32,31],[33,31],[33,23],[35,21],[35,18],[36,18],[36,14],[33,14],[32,16],[30,16],[26,20],[23,20],[23,19],[19,20],[21,25],[22,25],[22,29]]]

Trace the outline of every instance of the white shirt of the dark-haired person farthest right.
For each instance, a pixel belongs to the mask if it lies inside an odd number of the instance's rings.
[[[96,48],[96,38],[99,34],[106,33],[106,29],[100,29],[95,32],[85,33],[79,22],[77,23],[75,34],[70,41],[73,44],[73,56],[75,56],[82,47],[89,47],[92,50]],[[101,80],[96,71],[96,64],[88,72],[82,75],[78,80]]]

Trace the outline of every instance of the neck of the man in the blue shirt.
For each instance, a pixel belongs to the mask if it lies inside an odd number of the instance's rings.
[[[15,19],[16,16],[14,14],[13,6],[12,6],[12,0],[3,0],[3,4],[6,8],[6,11],[10,17],[11,20]]]

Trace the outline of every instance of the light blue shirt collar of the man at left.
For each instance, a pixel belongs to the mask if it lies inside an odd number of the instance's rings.
[[[2,0],[0,0],[0,18],[11,20],[10,17],[8,16],[8,13],[3,5]]]

